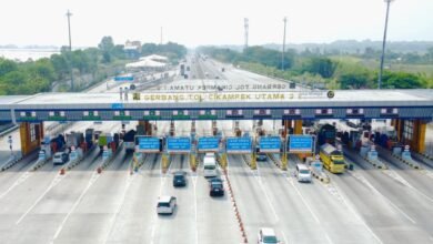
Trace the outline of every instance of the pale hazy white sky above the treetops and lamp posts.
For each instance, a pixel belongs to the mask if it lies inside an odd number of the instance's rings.
[[[202,44],[249,44],[335,40],[382,40],[383,0],[9,0],[0,8],[0,45],[68,44],[66,12],[72,12],[72,45],[95,47],[103,35],[127,40]],[[433,0],[395,0],[391,41],[433,41]]]

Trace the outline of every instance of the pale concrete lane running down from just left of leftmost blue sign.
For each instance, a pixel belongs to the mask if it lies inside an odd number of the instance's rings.
[[[132,153],[120,152],[57,230],[56,242],[98,243],[108,236],[130,186]],[[83,223],[87,223],[83,225]],[[61,227],[61,228],[60,228]]]

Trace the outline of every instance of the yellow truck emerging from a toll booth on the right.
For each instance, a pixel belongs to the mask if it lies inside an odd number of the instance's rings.
[[[333,145],[325,143],[320,146],[320,159],[323,162],[323,166],[331,173],[344,172],[344,156],[343,152],[336,150]]]

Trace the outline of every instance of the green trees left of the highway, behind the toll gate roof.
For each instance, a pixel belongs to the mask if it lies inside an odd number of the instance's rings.
[[[0,95],[34,94],[49,92],[57,81],[70,79],[73,74],[97,75],[107,67],[129,62],[122,44],[114,44],[111,37],[103,37],[98,48],[70,51],[62,47],[60,53],[37,61],[18,62],[0,58]],[[145,43],[141,54],[165,54],[172,60],[182,59],[187,48],[173,42],[167,44]],[[104,77],[99,78],[102,81]]]

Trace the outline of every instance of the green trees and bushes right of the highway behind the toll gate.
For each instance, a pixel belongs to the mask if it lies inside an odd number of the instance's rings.
[[[361,59],[356,55],[353,57],[358,61],[351,61],[351,55],[342,59],[341,55],[335,55],[333,52],[318,53],[310,50],[298,52],[290,49],[284,53],[283,59],[282,52],[263,47],[249,47],[241,52],[215,47],[201,47],[199,51],[243,69],[312,87],[329,89],[375,89],[377,87],[379,65],[372,69],[359,61]],[[430,51],[421,54],[420,60],[426,61],[431,55]],[[369,52],[363,55],[369,55]],[[377,57],[375,55],[375,58]],[[404,59],[406,60],[406,58]],[[385,70],[382,88],[433,88],[433,78],[425,73]]]

